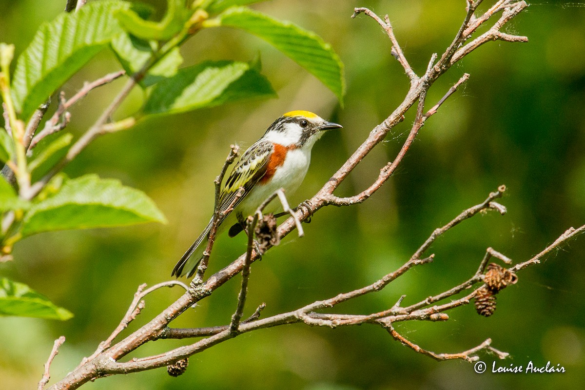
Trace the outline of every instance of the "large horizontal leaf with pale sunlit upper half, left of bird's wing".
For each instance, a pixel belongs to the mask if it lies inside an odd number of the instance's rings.
[[[118,180],[84,175],[66,180],[56,194],[33,203],[23,219],[22,235],[143,222],[166,223],[146,194]]]

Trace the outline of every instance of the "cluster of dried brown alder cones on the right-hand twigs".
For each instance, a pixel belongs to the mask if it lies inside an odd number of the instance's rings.
[[[495,294],[508,285],[516,284],[518,277],[512,271],[507,270],[501,265],[490,263],[487,266],[484,282],[486,287],[477,291],[475,299],[475,308],[477,313],[489,317],[495,311]]]

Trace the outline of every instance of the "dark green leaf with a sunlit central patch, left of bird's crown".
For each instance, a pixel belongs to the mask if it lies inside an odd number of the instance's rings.
[[[276,96],[276,92],[250,64],[206,61],[159,82],[143,110],[146,114],[183,112],[268,96]]]

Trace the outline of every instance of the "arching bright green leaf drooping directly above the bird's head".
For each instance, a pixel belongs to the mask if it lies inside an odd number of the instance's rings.
[[[313,32],[290,22],[281,22],[246,7],[229,8],[207,26],[236,27],[259,36],[315,75],[343,103],[343,63],[328,43]]]

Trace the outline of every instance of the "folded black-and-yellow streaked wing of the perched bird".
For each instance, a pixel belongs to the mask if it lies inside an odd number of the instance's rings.
[[[270,161],[270,156],[274,150],[274,145],[270,141],[257,141],[243,154],[238,164],[229,174],[228,180],[222,187],[219,200],[219,211],[225,212],[230,206],[235,209],[254,185],[264,176],[266,168]],[[238,193],[240,187],[244,188],[244,193],[235,204],[231,204]],[[225,217],[229,215],[226,214]]]

